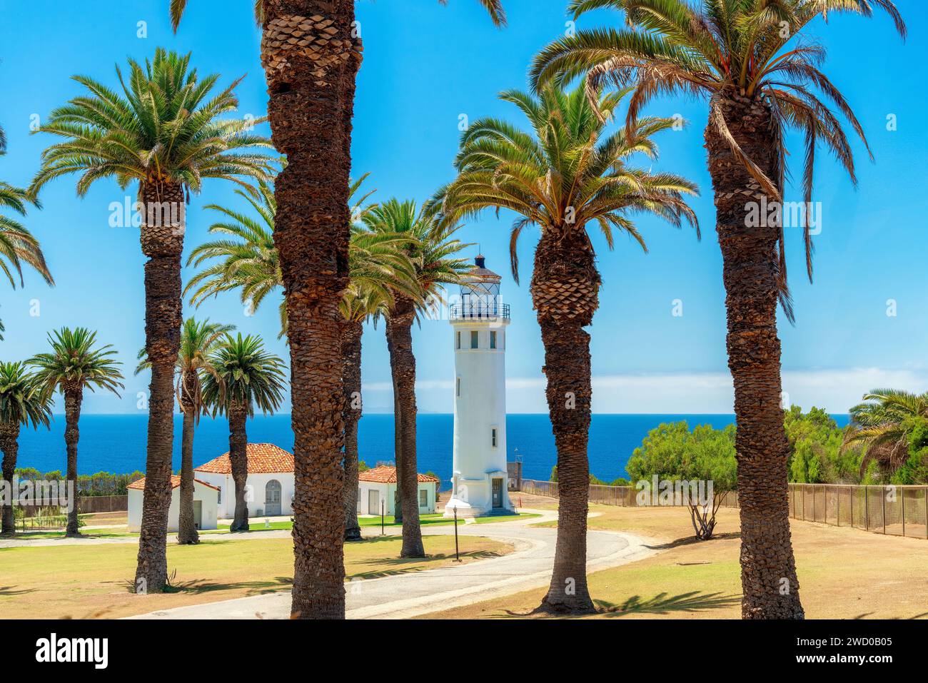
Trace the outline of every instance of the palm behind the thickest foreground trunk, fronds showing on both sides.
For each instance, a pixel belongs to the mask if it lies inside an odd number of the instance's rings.
[[[361,194],[368,174],[352,182],[350,200],[355,222],[362,221],[373,208],[367,199],[373,191]],[[242,303],[256,311],[271,291],[282,290],[283,280],[277,248],[274,246],[274,217],[277,203],[266,184],[258,188],[258,199],[239,192],[257,216],[236,212],[211,204],[208,209],[222,213],[220,223],[210,226],[211,233],[226,236],[201,244],[190,253],[187,264],[200,266],[211,259],[217,263],[204,267],[190,278],[184,293],[192,291],[190,303],[199,306],[219,292],[239,290]],[[348,248],[351,284],[342,297],[342,382],[344,410],[344,509],[345,540],[357,540],[361,529],[357,522],[357,423],[361,418],[361,336],[364,322],[385,303],[392,301],[394,290],[411,295],[418,292],[415,269],[403,247],[410,241],[403,235],[373,234],[362,226],[352,227]],[[286,301],[280,303],[280,334],[287,330]]]

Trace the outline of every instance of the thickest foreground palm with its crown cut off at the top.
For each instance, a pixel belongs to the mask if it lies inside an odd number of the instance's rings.
[[[445,2],[445,0],[440,0]],[[497,26],[501,0],[479,0]],[[187,0],[171,0],[174,30]],[[354,0],[255,0],[277,177],[274,241],[290,320],[296,495],[294,616],[344,618],[342,292],[348,286],[354,87],[363,46]]]

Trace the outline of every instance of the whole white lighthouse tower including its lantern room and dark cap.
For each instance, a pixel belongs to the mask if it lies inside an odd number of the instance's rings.
[[[483,256],[450,310],[455,344],[455,440],[445,517],[514,512],[506,471],[506,327],[500,277]]]

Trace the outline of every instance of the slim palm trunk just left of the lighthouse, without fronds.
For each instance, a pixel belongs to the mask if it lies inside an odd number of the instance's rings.
[[[419,527],[419,474],[416,461],[416,356],[412,352],[412,324],[415,306],[411,299],[397,295],[387,334],[391,338],[390,367],[400,415],[401,456],[396,461],[396,486],[403,510],[403,548],[400,557],[424,558],[422,530]]]

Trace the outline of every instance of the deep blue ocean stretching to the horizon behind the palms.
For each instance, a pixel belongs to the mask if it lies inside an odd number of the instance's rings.
[[[846,415],[832,416],[847,424]],[[627,476],[625,463],[648,432],[662,422],[685,419],[690,427],[711,424],[722,429],[734,415],[594,415],[589,432],[590,471],[606,482]],[[114,473],[145,470],[146,415],[84,415],[78,444],[78,470]],[[453,417],[420,415],[417,421],[419,471],[434,471],[450,487]],[[51,430],[23,429],[19,435],[18,467],[40,471],[65,470],[64,416]],[[557,453],[547,415],[509,415],[506,419],[509,460],[522,459],[522,476],[547,480]],[[181,418],[174,418],[174,470],[180,469]],[[290,415],[257,416],[248,422],[251,442],[270,442],[292,451]],[[393,461],[393,415],[365,415],[359,426],[360,457],[368,466]],[[228,451],[225,419],[200,420],[194,437],[194,463],[200,465]]]

